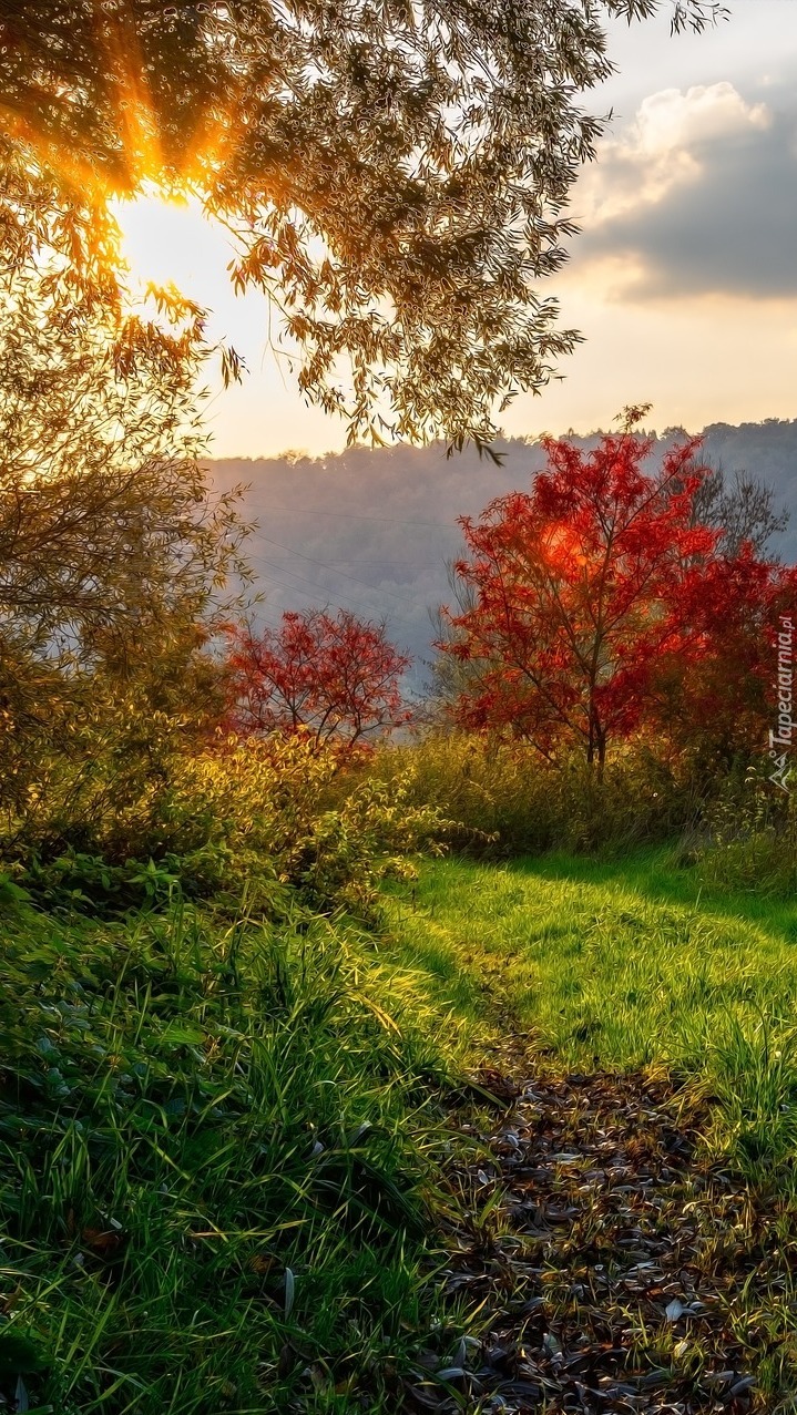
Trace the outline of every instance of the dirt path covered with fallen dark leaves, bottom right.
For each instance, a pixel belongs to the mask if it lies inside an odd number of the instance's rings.
[[[702,1122],[668,1084],[606,1074],[520,1087],[494,1129],[457,1115],[474,1159],[449,1176],[467,1217],[445,1283],[484,1334],[423,1353],[406,1408],[797,1409],[762,1388],[797,1385],[797,1220],[699,1157]]]

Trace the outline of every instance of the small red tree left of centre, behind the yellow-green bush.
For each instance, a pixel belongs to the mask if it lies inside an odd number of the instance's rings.
[[[409,720],[401,675],[409,659],[384,624],[350,610],[286,613],[279,630],[229,628],[229,724],[243,736],[306,733],[347,747]]]

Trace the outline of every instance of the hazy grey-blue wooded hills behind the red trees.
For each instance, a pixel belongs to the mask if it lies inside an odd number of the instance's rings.
[[[657,453],[680,432],[665,429]],[[568,436],[589,447],[600,433]],[[747,471],[774,490],[790,524],[772,548],[797,560],[797,419],[712,423],[702,436],[708,463]],[[394,642],[412,655],[412,685],[420,688],[432,655],[430,611],[450,600],[446,566],[461,548],[457,516],[525,490],[545,466],[537,441],[510,439],[495,450],[504,454],[500,467],[470,449],[446,458],[443,443],[211,463],[218,490],[249,488],[243,509],[258,529],[248,553],[265,593],[256,618],[277,624],[283,610],[326,604],[385,618]]]

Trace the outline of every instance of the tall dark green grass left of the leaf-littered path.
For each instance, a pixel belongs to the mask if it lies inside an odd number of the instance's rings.
[[[323,920],[6,904],[0,935],[0,1397],[21,1377],[58,1415],[391,1409],[435,1317],[456,1027]]]

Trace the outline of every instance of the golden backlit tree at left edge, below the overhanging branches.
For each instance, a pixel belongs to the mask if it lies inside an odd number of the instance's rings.
[[[126,316],[101,250],[21,164],[0,166],[0,627],[35,652],[89,651],[177,610],[198,618],[236,560],[235,494],[200,464],[202,324]],[[91,269],[91,262],[98,262]]]

